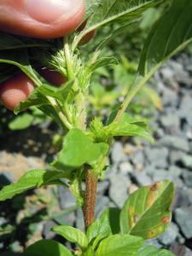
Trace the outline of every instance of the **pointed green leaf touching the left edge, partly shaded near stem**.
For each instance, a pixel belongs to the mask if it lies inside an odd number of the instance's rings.
[[[32,170],[26,172],[17,183],[12,183],[0,190],[0,201],[11,199],[15,195],[43,185],[57,183],[63,172]]]

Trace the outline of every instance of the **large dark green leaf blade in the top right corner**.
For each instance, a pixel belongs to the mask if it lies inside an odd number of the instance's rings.
[[[158,20],[144,44],[138,72],[153,73],[172,55],[192,42],[191,0],[173,0],[172,7]]]

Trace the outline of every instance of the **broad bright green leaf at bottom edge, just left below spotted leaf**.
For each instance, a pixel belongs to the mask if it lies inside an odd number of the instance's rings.
[[[96,256],[137,256],[143,238],[130,235],[113,235],[101,241]]]

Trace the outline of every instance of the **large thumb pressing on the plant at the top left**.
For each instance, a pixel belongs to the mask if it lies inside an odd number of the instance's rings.
[[[84,0],[1,0],[0,30],[33,38],[72,32],[84,16]]]

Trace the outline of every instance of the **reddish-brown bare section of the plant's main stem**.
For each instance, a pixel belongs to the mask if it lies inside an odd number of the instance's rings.
[[[85,173],[84,224],[87,229],[95,219],[97,177],[88,169]]]

